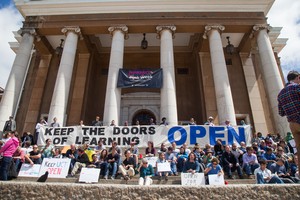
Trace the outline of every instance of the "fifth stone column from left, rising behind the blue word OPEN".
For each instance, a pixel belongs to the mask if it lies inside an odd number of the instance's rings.
[[[226,120],[230,120],[232,125],[236,125],[234,105],[220,34],[224,30],[224,26],[206,26],[203,37],[207,38],[208,36],[209,39],[219,123],[224,124]]]

